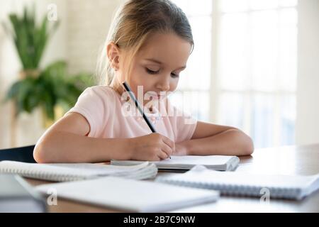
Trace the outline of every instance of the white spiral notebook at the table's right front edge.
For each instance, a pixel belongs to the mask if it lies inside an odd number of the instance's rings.
[[[157,182],[220,191],[235,196],[258,196],[269,192],[276,199],[297,199],[319,189],[319,175],[254,175],[245,172],[218,172],[196,166],[184,174],[157,177]]]

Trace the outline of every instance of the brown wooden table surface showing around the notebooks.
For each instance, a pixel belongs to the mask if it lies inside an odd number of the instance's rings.
[[[240,157],[237,172],[282,175],[313,175],[319,173],[319,144],[284,146],[255,150],[251,156]],[[172,173],[159,172],[159,175]],[[27,179],[30,184],[47,182]],[[118,212],[90,204],[58,199],[56,206],[48,206],[49,212]],[[211,204],[192,206],[174,212],[319,212],[319,191],[303,201],[270,199],[269,203],[259,198],[221,196]]]

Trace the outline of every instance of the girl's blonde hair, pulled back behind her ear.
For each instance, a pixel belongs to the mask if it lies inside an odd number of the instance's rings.
[[[106,84],[118,93],[123,87],[115,77],[106,53],[107,45],[115,43],[121,50],[128,51],[125,79],[130,76],[133,57],[153,33],[175,33],[189,41],[194,48],[191,26],[183,11],[169,0],[129,0],[116,12],[101,50],[97,65],[100,84]]]

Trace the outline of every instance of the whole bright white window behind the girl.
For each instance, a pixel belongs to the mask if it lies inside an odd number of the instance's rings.
[[[174,2],[189,17],[195,49],[172,102],[242,129],[256,148],[293,144],[297,1]]]

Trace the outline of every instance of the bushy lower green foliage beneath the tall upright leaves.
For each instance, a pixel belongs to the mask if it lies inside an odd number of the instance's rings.
[[[54,107],[58,104],[67,111],[74,106],[83,90],[94,84],[90,78],[91,74],[86,73],[68,76],[67,64],[55,62],[40,72],[39,77],[27,77],[15,82],[6,100],[15,100],[16,114],[22,111],[31,113],[40,106],[46,116],[54,120]]]

